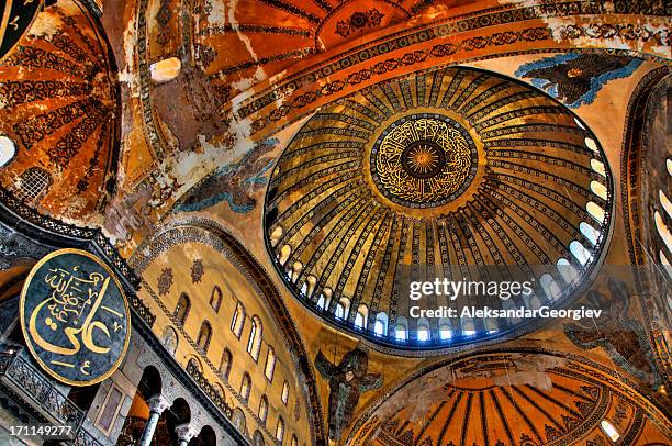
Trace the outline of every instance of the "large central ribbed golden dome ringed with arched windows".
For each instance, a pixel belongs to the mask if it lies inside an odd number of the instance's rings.
[[[272,172],[265,233],[287,286],[334,324],[384,345],[461,345],[529,323],[419,327],[404,280],[517,276],[534,292],[502,305],[565,306],[600,259],[612,197],[604,153],[569,109],[449,67],[310,118]]]

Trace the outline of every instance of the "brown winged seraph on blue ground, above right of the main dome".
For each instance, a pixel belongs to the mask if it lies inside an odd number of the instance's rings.
[[[593,103],[607,82],[630,76],[641,59],[604,54],[561,54],[520,66],[519,78],[531,83],[572,109]]]

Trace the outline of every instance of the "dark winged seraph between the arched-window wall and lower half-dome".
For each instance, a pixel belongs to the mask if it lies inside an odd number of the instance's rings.
[[[359,395],[382,386],[379,373],[369,375],[369,354],[366,347],[357,346],[345,354],[336,366],[317,352],[315,367],[329,381],[329,439],[338,441],[350,423]]]

